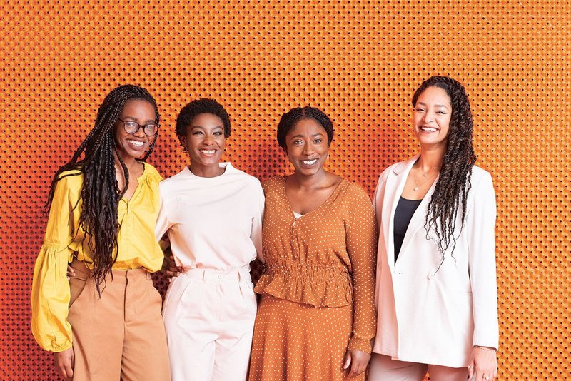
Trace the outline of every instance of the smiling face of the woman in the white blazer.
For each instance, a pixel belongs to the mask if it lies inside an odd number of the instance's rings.
[[[431,86],[420,93],[415,104],[413,126],[420,145],[446,148],[452,104],[443,88]]]

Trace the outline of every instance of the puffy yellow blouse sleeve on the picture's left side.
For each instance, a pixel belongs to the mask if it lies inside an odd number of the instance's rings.
[[[67,321],[70,298],[67,265],[74,251],[69,248],[79,218],[79,176],[56,183],[44,245],[41,246],[31,286],[31,332],[38,344],[51,352],[71,347]]]

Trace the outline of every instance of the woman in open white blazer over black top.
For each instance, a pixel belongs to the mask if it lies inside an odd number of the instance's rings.
[[[413,96],[420,155],[375,192],[378,329],[370,380],[493,380],[497,374],[495,193],[474,166],[463,86],[429,78]]]

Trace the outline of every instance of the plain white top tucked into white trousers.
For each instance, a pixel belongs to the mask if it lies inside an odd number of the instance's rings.
[[[177,266],[226,271],[262,253],[264,196],[260,181],[231,163],[220,176],[194,175],[188,167],[161,181],[155,235],[171,241]]]

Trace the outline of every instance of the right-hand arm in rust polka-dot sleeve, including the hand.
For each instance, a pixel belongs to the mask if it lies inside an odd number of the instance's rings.
[[[348,356],[352,362],[350,377],[363,372],[370,360],[371,339],[375,336],[376,311],[375,264],[377,249],[377,227],[375,214],[368,195],[355,187],[349,205],[350,221],[346,226],[347,252],[353,277],[353,337],[348,345]],[[348,367],[348,361],[345,362]]]

